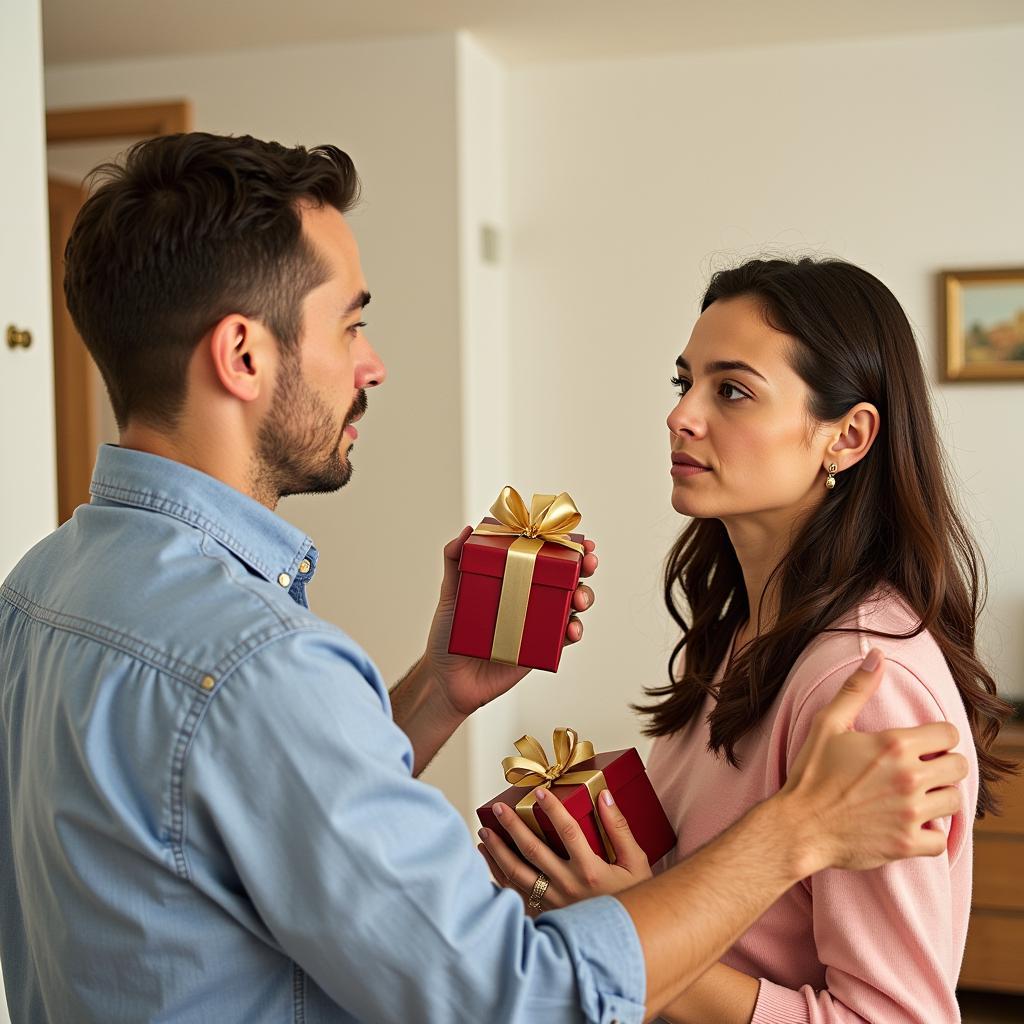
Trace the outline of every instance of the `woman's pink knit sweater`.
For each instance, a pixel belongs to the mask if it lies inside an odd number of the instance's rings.
[[[882,597],[844,625],[903,633],[914,616]],[[761,979],[752,1024],[958,1021],[954,988],[971,907],[973,809],[978,765],[964,706],[928,633],[887,640],[823,634],[798,659],[760,726],[739,742],[740,770],[708,751],[711,711],[659,737],[648,772],[679,835],[659,869],[687,857],[785,782],[811,725],[871,646],[886,655],[879,692],[857,719],[863,731],[946,719],[971,762],[964,810],[939,824],[946,852],[872,871],[826,870],[786,892],[722,958]],[[720,674],[721,674],[720,670]]]

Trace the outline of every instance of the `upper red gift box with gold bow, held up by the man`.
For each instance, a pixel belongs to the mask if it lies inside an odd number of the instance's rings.
[[[514,501],[522,505],[519,496],[511,487],[506,487],[493,511],[501,511],[507,492],[511,492]],[[535,496],[536,506],[538,498],[551,501],[551,496]],[[558,496],[556,501],[561,501],[562,498],[567,499],[568,496]],[[568,502],[571,503],[571,500],[568,499]],[[543,502],[541,505],[543,506]],[[562,505],[560,511],[564,512],[564,508]],[[574,505],[571,505],[571,510],[574,518],[567,521],[574,525],[580,517]],[[519,609],[522,617],[516,618],[514,623],[514,632],[521,630],[518,647],[513,644],[509,652],[502,642],[505,633],[499,617],[500,612],[507,613],[503,603],[507,595],[503,595],[503,590],[509,565],[509,549],[513,545],[522,546],[523,538],[527,536],[525,532],[515,532],[518,526],[508,526],[512,518],[507,517],[502,521],[496,518],[484,519],[477,527],[480,532],[470,536],[463,546],[449,652],[555,672],[562,656],[572,592],[580,582],[583,567],[583,554],[566,546],[564,542],[582,547],[583,535],[558,534],[563,540],[561,544],[544,540],[543,532],[528,535],[536,537],[536,540],[526,542],[537,549],[536,556],[530,553],[536,561],[529,581],[528,602]],[[523,523],[523,530],[525,528]]]

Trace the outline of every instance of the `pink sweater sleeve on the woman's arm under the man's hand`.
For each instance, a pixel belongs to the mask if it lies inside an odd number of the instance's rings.
[[[951,719],[913,672],[887,660],[878,693],[858,717],[859,731]],[[788,770],[814,714],[835,696],[855,664],[813,685],[796,708],[785,737]],[[953,691],[952,696],[958,700]],[[800,699],[800,698],[798,698]],[[966,723],[965,723],[966,725]],[[974,758],[961,728],[961,753]],[[958,1021],[955,985],[964,953],[971,898],[972,809],[977,771],[961,783],[963,806],[952,818],[931,822],[946,835],[937,857],[915,857],[870,871],[825,870],[805,880],[811,894],[814,941],[825,968],[825,987],[799,990],[762,979],[751,1024],[934,1024]],[[957,868],[957,861],[967,861]]]

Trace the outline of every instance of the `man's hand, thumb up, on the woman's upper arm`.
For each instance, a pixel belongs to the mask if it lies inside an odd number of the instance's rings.
[[[815,716],[810,735],[777,799],[805,837],[803,873],[824,867],[867,869],[903,857],[936,856],[945,836],[928,822],[961,808],[963,755],[947,753],[959,734],[948,722],[886,732],[854,732],[853,722],[882,680],[872,650]]]

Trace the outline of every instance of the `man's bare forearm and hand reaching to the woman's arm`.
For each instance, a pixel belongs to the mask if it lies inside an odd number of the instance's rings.
[[[882,655],[872,651],[815,716],[779,793],[681,864],[616,894],[643,949],[648,1014],[692,985],[802,878],[945,849],[945,837],[926,826],[959,809],[967,760],[945,753],[958,734],[948,723],[851,731],[881,681]]]

